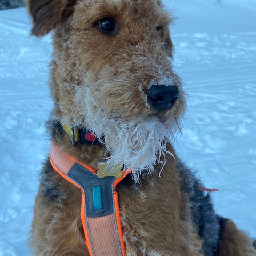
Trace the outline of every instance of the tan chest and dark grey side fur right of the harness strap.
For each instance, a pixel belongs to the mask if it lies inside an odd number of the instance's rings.
[[[214,256],[221,236],[211,197],[182,163],[117,187],[127,255]],[[202,186],[202,185],[201,185]],[[189,242],[184,242],[189,241]]]

